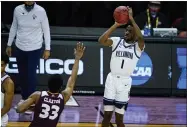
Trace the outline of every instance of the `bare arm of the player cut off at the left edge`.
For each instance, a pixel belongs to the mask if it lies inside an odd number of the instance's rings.
[[[5,80],[3,86],[5,90],[5,98],[4,98],[4,106],[1,109],[1,116],[4,116],[7,112],[9,112],[12,106],[12,100],[14,97],[14,82],[8,78]]]

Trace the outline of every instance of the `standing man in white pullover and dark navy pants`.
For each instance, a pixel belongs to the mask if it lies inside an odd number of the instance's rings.
[[[36,69],[39,64],[42,44],[45,42],[43,59],[50,56],[50,28],[46,11],[34,1],[26,1],[14,10],[6,52],[12,55],[12,43],[16,36],[16,59],[19,71],[21,96],[23,102],[37,85]],[[43,40],[44,36],[44,40]],[[27,112],[31,113],[31,112]]]

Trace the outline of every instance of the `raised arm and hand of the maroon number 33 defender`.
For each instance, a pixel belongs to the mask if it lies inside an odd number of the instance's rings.
[[[73,89],[74,89],[74,86],[75,86],[75,81],[77,79],[77,72],[78,72],[78,68],[79,68],[79,60],[83,56],[84,50],[85,50],[85,47],[84,47],[83,43],[82,44],[80,42],[77,43],[77,47],[76,47],[76,49],[74,49],[75,62],[74,62],[74,65],[73,65],[72,73],[71,73],[71,76],[69,77],[69,80],[67,82],[66,89],[64,91],[62,91],[65,103],[69,100],[70,96],[73,93]]]

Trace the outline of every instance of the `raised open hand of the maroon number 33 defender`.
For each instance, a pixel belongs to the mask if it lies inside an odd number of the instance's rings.
[[[83,56],[85,51],[85,47],[83,45],[83,43],[77,43],[77,47],[76,49],[74,49],[74,54],[75,54],[75,59],[81,59],[81,57]]]

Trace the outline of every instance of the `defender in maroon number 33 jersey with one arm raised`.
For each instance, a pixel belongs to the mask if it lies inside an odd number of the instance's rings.
[[[66,89],[60,91],[63,80],[60,75],[52,75],[48,80],[49,91],[36,91],[27,100],[19,104],[16,111],[25,112],[34,107],[34,119],[29,127],[56,127],[64,105],[73,93],[77,78],[79,60],[83,56],[85,47],[80,42],[75,49],[75,63],[72,74],[67,82]]]

